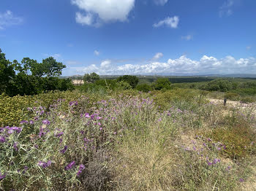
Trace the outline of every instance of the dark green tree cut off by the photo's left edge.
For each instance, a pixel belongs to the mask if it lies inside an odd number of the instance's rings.
[[[12,79],[15,71],[12,63],[5,58],[5,54],[0,49],[0,94],[7,93],[12,86]]]

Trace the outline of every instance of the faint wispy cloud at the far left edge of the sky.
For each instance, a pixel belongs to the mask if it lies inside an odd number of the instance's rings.
[[[21,17],[15,17],[10,10],[4,13],[0,12],[0,29],[19,25],[20,23],[23,23],[23,19]]]

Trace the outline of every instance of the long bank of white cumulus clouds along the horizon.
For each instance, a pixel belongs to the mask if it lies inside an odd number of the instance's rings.
[[[97,72],[97,74],[236,74],[256,73],[256,58],[236,59],[232,56],[217,59],[203,55],[198,61],[182,55],[180,58],[168,59],[166,62],[151,61],[141,64],[113,63],[106,60],[97,66],[92,64],[83,68],[83,73]]]

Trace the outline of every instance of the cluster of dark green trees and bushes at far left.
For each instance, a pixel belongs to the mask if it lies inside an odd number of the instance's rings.
[[[0,94],[37,95],[50,90],[72,90],[71,79],[59,79],[66,66],[54,58],[46,58],[42,63],[30,58],[10,62],[0,49]]]

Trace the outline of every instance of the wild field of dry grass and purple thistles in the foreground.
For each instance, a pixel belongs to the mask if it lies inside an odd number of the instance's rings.
[[[186,88],[0,96],[0,190],[255,190],[255,104]]]

